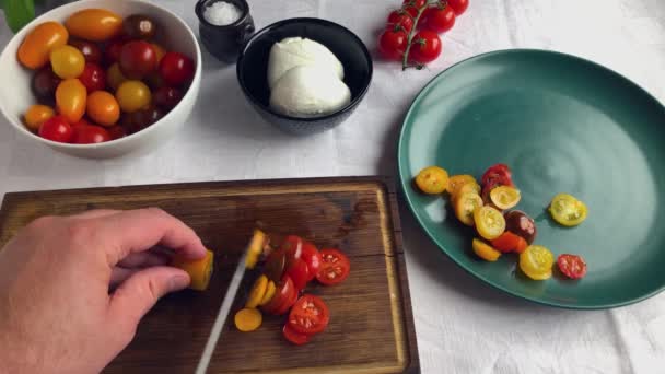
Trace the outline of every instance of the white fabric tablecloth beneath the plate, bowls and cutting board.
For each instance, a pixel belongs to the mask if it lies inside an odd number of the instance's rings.
[[[198,33],[194,0],[159,2]],[[257,27],[317,16],[374,49],[398,0],[250,0]],[[0,21],[0,46],[11,37]],[[0,194],[18,190],[222,179],[396,173],[396,140],[418,91],[465,58],[544,48],[595,60],[665,102],[665,1],[471,0],[423,71],[375,62],[372,87],[341,127],[293,138],[243,97],[234,67],[205,52],[205,78],[186,130],[154,151],[110,161],[37,147],[0,119]],[[0,84],[2,84],[0,82]],[[665,124],[664,124],[665,125]],[[445,257],[402,207],[407,266],[423,373],[665,373],[665,294],[612,311],[544,307],[504,295]],[[665,253],[664,253],[665,255]]]

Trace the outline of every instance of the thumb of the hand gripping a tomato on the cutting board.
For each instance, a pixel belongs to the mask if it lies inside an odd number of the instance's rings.
[[[133,331],[160,297],[187,288],[189,282],[187,272],[167,266],[138,271],[115,290],[109,314],[115,322]]]

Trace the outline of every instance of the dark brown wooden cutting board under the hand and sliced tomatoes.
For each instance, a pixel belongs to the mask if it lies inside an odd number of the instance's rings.
[[[330,308],[326,332],[308,344],[287,342],[284,317],[266,316],[254,332],[224,327],[209,373],[420,372],[393,183],[383,177],[152,185],[7,194],[0,245],[30,221],[95,208],[160,207],[191,226],[215,253],[206,292],[162,299],[136,339],[105,373],[194,373],[241,250],[257,222],[276,235],[298,234],[351,259],[337,287],[307,292]],[[235,303],[256,278],[248,272]],[[75,295],[72,295],[75,296]]]

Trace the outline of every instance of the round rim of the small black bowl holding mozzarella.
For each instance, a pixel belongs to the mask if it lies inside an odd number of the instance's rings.
[[[363,55],[365,56],[365,59],[369,62],[369,67],[370,67],[369,74],[368,74],[368,82],[362,87],[360,93],[349,102],[349,104],[345,105],[343,107],[341,107],[332,113],[329,113],[329,114],[323,115],[323,116],[294,117],[294,116],[289,116],[289,115],[284,115],[284,114],[272,110],[272,108],[270,108],[269,105],[265,105],[264,103],[259,102],[254,96],[254,94],[252,94],[252,92],[249,92],[249,90],[247,89],[247,86],[245,84],[243,75],[241,74],[241,67],[243,66],[243,61],[244,61],[247,49],[250,47],[250,45],[255,40],[257,40],[259,37],[264,36],[267,32],[275,30],[275,28],[279,28],[284,25],[293,24],[293,23],[310,23],[310,24],[319,24],[319,25],[324,24],[327,26],[332,26],[335,28],[338,28],[342,33],[346,33],[349,36],[351,36],[351,38],[361,47]],[[245,44],[241,48],[241,52],[240,52],[240,56],[238,56],[236,65],[235,65],[235,74],[236,74],[237,81],[241,85],[241,89],[245,93],[245,96],[250,97],[250,101],[253,104],[259,106],[261,109],[264,109],[264,110],[268,112],[269,114],[271,114],[278,118],[281,118],[281,119],[313,124],[313,122],[318,122],[322,120],[331,119],[343,113],[353,110],[353,108],[362,101],[362,98],[365,96],[365,94],[370,90],[370,85],[372,85],[372,78],[374,74],[374,61],[372,60],[372,54],[370,54],[368,46],[362,42],[362,39],[358,35],[355,35],[355,33],[353,33],[349,28],[340,25],[339,23],[324,20],[324,19],[316,19],[316,17],[293,17],[293,19],[285,19],[285,20],[281,20],[281,21],[271,23],[271,24],[265,26],[264,28],[259,30],[258,32],[256,32],[254,35],[252,35],[252,37],[249,39],[247,39],[247,42],[245,42]]]

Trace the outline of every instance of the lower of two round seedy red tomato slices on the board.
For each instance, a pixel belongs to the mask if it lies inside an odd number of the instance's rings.
[[[330,322],[328,306],[318,296],[305,294],[298,300],[289,314],[289,325],[300,334],[318,334]]]

